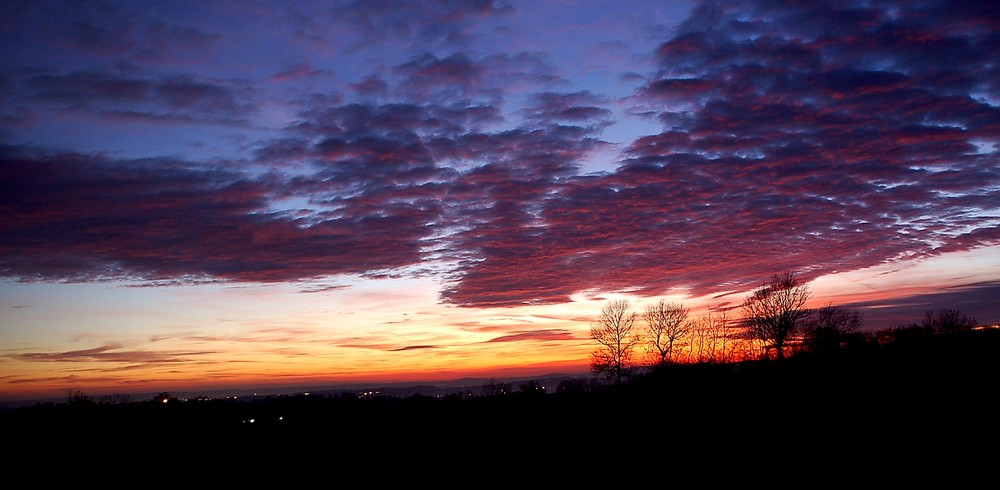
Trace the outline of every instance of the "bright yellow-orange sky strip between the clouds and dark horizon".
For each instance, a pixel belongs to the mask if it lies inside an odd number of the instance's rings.
[[[924,281],[948,286],[961,283],[949,278],[968,281],[975,274],[987,280],[996,274],[989,264],[995,253],[821,277],[808,284],[809,306],[888,301],[933,290],[921,286]],[[970,265],[973,272],[959,272]],[[415,279],[377,285],[359,280],[318,293],[287,285],[36,285],[18,291],[7,300],[20,307],[8,308],[5,319],[10,327],[0,361],[0,400],[586,375],[595,347],[591,321],[605,300],[621,296],[459,308],[440,304],[435,286]],[[60,301],[44,307],[43,297]],[[663,298],[689,307],[695,320],[710,307],[736,308],[730,312],[735,321],[744,294],[623,297],[640,314]],[[49,327],[45,336],[34,333],[38,325]]]

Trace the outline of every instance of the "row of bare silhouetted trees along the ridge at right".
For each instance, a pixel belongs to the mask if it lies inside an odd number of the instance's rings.
[[[859,310],[806,304],[812,294],[793,273],[775,274],[739,306],[724,305],[691,318],[682,303],[660,300],[644,311],[626,299],[608,301],[590,334],[595,375],[621,384],[637,372],[670,364],[731,364],[829,352],[886,335],[968,330],[977,320],[958,310],[926,312],[921,322],[888,332],[863,330]]]

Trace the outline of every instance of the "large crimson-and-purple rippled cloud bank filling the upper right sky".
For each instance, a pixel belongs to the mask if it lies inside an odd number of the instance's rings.
[[[866,5],[694,9],[629,101],[662,132],[481,216],[444,296],[701,295],[998,243],[995,9]]]

